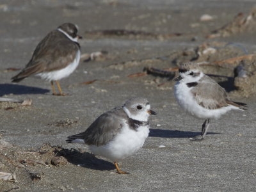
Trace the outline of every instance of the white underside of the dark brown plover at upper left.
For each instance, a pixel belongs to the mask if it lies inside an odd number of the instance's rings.
[[[46,81],[56,81],[68,77],[74,70],[77,68],[80,60],[80,51],[77,51],[76,58],[72,63],[70,63],[67,67],[62,68],[61,70],[54,70],[51,72],[42,72],[40,74],[36,74],[36,76],[45,79]]]

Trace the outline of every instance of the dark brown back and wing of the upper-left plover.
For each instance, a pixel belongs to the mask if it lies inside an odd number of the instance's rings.
[[[51,31],[36,46],[26,67],[17,76],[12,77],[13,82],[19,82],[40,72],[51,72],[65,68],[74,61],[79,49],[80,46],[77,42],[72,42],[60,31]]]

